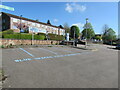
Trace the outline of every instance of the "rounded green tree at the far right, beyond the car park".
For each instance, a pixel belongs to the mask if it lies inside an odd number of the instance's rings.
[[[112,28],[105,30],[102,39],[104,43],[116,40],[115,31]]]

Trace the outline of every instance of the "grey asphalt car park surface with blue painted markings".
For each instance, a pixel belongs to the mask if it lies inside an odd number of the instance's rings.
[[[3,88],[117,88],[118,50],[94,47],[3,49]]]

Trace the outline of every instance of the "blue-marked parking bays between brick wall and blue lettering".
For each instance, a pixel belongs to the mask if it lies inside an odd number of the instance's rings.
[[[9,51],[11,53],[13,53],[13,51],[15,52],[15,57],[12,58],[12,60],[15,62],[63,58],[90,53],[84,51],[81,53],[81,50],[78,49],[62,47],[17,48]]]

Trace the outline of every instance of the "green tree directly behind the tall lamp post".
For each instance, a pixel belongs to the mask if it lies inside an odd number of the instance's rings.
[[[82,37],[86,39],[91,39],[92,37],[95,36],[95,32],[93,30],[91,23],[86,23],[83,28],[84,29],[82,31]]]

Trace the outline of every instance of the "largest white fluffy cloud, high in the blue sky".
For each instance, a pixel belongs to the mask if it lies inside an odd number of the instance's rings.
[[[72,13],[73,11],[79,11],[84,12],[87,9],[85,5],[80,5],[77,3],[67,3],[65,10],[69,13]]]

